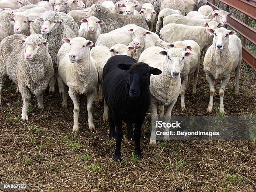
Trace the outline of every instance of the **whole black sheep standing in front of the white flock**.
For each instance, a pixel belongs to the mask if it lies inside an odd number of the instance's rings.
[[[116,55],[108,59],[103,69],[103,94],[109,108],[110,138],[116,138],[115,159],[120,159],[123,138],[122,120],[127,123],[129,138],[141,158],[141,126],[150,105],[150,75],[161,74],[157,68],[130,56]]]

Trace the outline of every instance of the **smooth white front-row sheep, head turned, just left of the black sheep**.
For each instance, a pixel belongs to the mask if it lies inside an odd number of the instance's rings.
[[[85,38],[63,38],[65,44],[61,46],[57,55],[59,77],[61,78],[62,107],[67,108],[67,86],[69,96],[74,104],[73,132],[79,131],[79,94],[87,95],[87,112],[89,130],[95,130],[92,116],[92,104],[98,82],[95,60],[90,54],[92,41]]]

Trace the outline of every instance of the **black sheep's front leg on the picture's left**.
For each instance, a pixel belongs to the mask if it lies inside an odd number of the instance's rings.
[[[123,139],[122,121],[119,120],[115,115],[112,114],[113,121],[116,128],[116,146],[115,146],[115,159],[121,160],[121,143]]]

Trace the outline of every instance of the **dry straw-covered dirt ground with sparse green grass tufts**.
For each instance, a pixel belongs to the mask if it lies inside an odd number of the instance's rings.
[[[255,115],[256,73],[245,64],[241,69],[240,94],[234,95],[234,74],[225,92],[226,115]],[[73,104],[61,109],[58,89],[44,95],[45,110],[32,97],[29,121],[20,120],[22,102],[10,81],[0,107],[0,183],[26,183],[29,191],[256,191],[255,141],[168,141],[149,146],[150,113],[143,125],[143,159],[134,156],[134,142],[127,131],[122,160],[113,160],[115,140],[102,122],[103,106],[94,106],[95,132],[87,127],[86,97],[80,96],[80,130],[72,133]],[[215,83],[218,115],[219,82]],[[202,66],[197,94],[185,94],[172,115],[207,115],[209,85]],[[1,189],[0,189],[1,191]]]

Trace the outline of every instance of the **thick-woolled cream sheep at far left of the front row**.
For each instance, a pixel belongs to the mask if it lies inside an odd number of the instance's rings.
[[[0,105],[4,80],[8,76],[19,88],[23,100],[21,119],[28,120],[31,93],[44,109],[43,93],[54,75],[48,43],[38,34],[15,34],[0,43]]]

